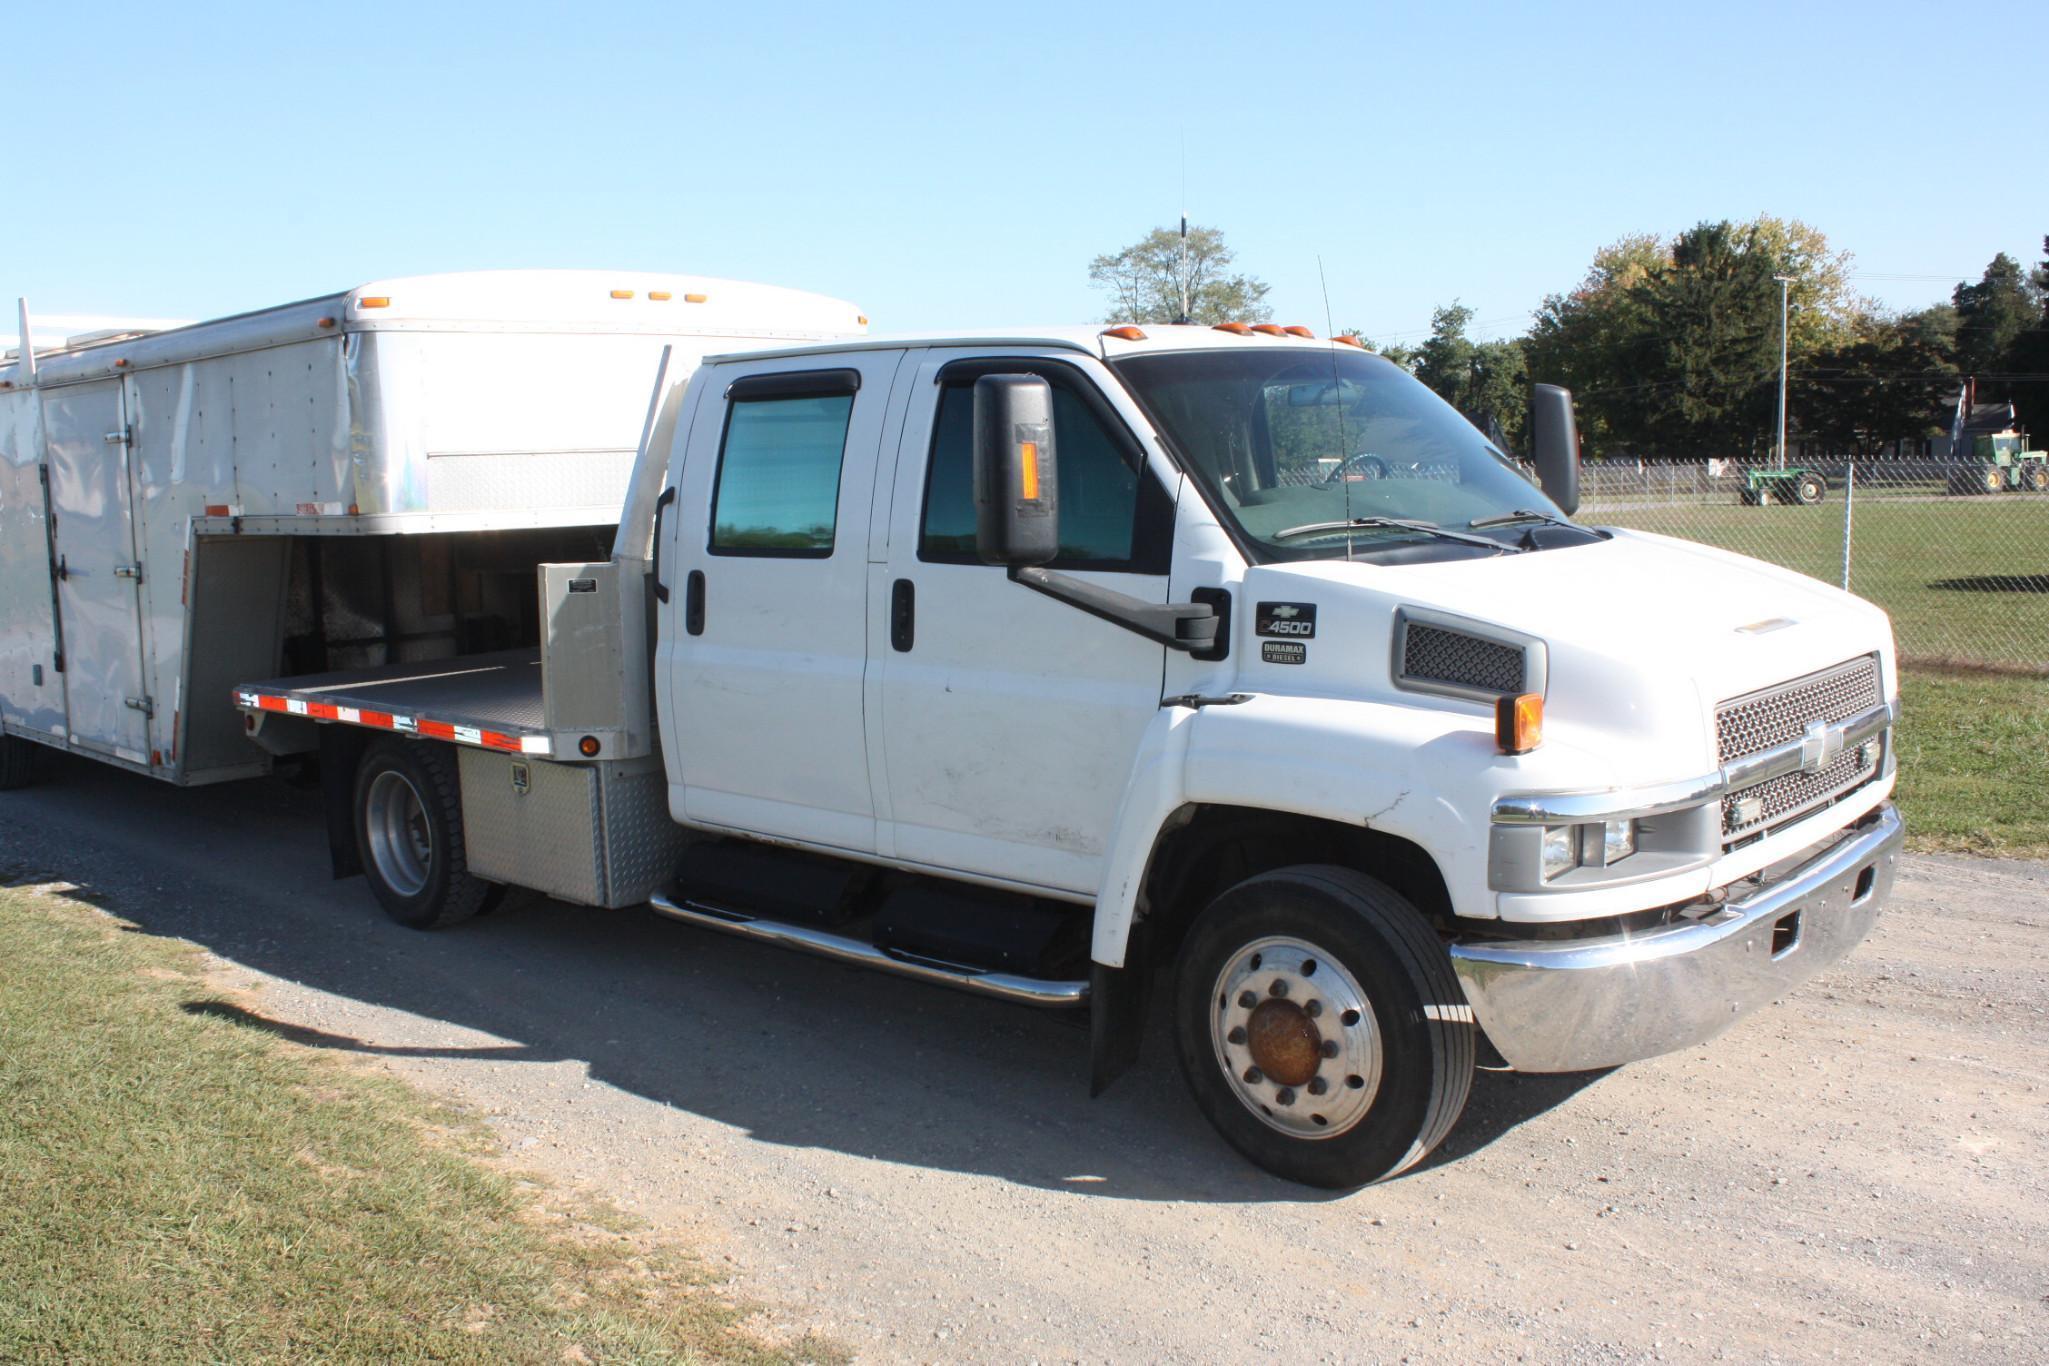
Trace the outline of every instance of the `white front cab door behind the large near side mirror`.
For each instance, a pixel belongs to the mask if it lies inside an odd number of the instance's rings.
[[[1129,414],[1068,352],[924,352],[889,510],[881,756],[895,858],[1094,895],[1162,645],[1012,584],[975,555],[973,383],[1053,385],[1061,555],[1166,602],[1172,500]],[[881,596],[881,594],[879,594]]]

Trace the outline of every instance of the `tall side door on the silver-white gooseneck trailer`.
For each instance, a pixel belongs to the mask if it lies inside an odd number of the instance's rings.
[[[43,389],[41,397],[72,743],[148,764],[152,702],[121,381]]]

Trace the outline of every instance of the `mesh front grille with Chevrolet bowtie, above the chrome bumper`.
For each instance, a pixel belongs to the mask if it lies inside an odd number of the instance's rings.
[[[1801,739],[1811,721],[1840,725],[1885,700],[1879,657],[1860,655],[1820,674],[1764,688],[1715,709],[1721,762]],[[1791,772],[1721,799],[1723,840],[1738,840],[1820,807],[1879,772],[1881,741],[1844,750],[1815,772]]]

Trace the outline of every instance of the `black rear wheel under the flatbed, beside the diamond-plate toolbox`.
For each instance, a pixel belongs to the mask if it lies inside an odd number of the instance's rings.
[[[381,739],[357,764],[357,850],[385,913],[414,930],[441,930],[502,895],[469,872],[455,756],[432,741]]]

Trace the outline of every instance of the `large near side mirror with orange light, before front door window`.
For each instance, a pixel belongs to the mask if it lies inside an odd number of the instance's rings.
[[[975,553],[1012,569],[1059,555],[1053,385],[1037,375],[975,381]]]

